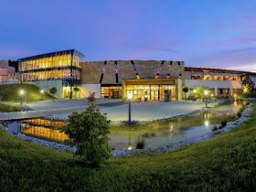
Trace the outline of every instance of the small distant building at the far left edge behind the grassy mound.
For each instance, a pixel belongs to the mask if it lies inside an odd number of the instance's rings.
[[[13,67],[11,67],[11,65]],[[0,60],[0,83],[9,83],[18,80],[15,62],[10,60]]]

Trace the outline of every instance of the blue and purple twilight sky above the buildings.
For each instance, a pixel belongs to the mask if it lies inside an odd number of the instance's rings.
[[[0,59],[69,48],[256,72],[256,0],[0,0]]]

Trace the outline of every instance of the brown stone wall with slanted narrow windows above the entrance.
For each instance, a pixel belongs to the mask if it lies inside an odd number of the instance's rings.
[[[159,71],[158,78],[165,79],[167,74],[170,73],[171,79],[184,78],[184,62],[173,61],[170,65],[170,60],[117,60],[117,66],[114,60],[106,62],[103,78],[101,84],[121,84],[122,80],[135,80],[137,79],[135,70],[138,77],[142,80],[155,79]],[[161,68],[162,66],[162,68]],[[116,81],[115,67],[118,71],[118,81]],[[104,68],[104,61],[83,62],[81,69],[81,84],[98,84],[101,80],[101,73]],[[160,69],[161,68],[161,69]]]

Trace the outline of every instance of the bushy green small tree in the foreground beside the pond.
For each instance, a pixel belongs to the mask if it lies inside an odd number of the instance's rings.
[[[101,165],[111,156],[108,145],[110,121],[101,114],[94,102],[90,103],[86,111],[70,114],[62,132],[69,135],[69,140],[65,143],[75,145],[77,147],[75,155],[88,165]]]

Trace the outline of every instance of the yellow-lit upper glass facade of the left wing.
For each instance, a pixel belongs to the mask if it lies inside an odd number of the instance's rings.
[[[22,81],[63,80],[70,83],[80,80],[83,55],[70,49],[25,59],[19,59]]]

